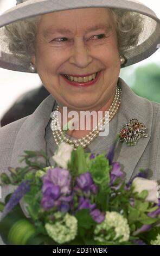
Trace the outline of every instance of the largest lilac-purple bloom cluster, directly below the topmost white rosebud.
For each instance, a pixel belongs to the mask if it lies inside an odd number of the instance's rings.
[[[45,210],[54,206],[61,206],[62,202],[70,202],[71,196],[71,175],[68,170],[61,168],[49,169],[43,176],[43,198],[41,205]]]

